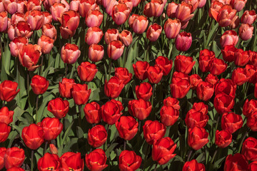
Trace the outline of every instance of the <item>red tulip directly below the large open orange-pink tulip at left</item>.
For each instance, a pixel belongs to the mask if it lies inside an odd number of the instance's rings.
[[[49,81],[46,78],[35,75],[31,79],[31,88],[36,95],[44,94],[49,86]]]

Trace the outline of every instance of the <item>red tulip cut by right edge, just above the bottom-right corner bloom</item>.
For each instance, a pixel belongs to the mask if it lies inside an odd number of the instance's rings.
[[[256,138],[249,137],[243,142],[242,155],[246,157],[247,160],[256,161],[257,160],[257,140]]]

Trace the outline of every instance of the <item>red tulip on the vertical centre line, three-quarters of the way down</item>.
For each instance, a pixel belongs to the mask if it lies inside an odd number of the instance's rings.
[[[138,132],[138,122],[131,116],[121,116],[115,125],[124,140],[131,140]]]

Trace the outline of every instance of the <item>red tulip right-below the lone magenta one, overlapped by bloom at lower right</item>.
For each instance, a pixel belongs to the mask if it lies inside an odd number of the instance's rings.
[[[204,73],[209,71],[208,64],[211,59],[215,58],[215,53],[208,49],[203,49],[199,54],[199,68]]]

